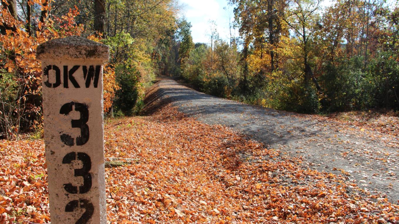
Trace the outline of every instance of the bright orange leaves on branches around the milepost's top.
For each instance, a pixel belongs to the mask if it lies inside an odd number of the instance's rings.
[[[28,4],[51,11],[46,1],[30,0]],[[45,3],[45,6],[43,4]],[[41,65],[36,60],[36,48],[41,43],[45,43],[51,39],[67,37],[71,35],[81,35],[83,33],[83,24],[77,24],[75,18],[79,16],[79,10],[75,8],[69,9],[69,12],[61,17],[51,15],[41,22],[38,18],[37,29],[29,31],[27,29],[30,24],[14,18],[8,10],[2,8],[0,22],[7,24],[14,29],[7,29],[6,35],[0,35],[0,70],[2,73],[10,73],[13,79],[21,85],[25,85],[26,94],[41,95]],[[32,26],[33,29],[33,26]],[[89,36],[97,42],[101,39]],[[108,112],[111,108],[112,100],[115,97],[115,90],[118,87],[115,81],[115,69],[111,66],[104,68],[104,111]]]

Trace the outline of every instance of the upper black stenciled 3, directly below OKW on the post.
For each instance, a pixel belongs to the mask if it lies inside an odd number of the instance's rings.
[[[84,145],[89,141],[89,126],[87,126],[87,121],[89,120],[89,109],[86,104],[70,102],[61,106],[59,110],[60,114],[68,115],[72,111],[72,106],[75,105],[75,111],[80,112],[79,120],[71,120],[72,128],[80,128],[81,135],[76,138],[76,145]],[[68,134],[61,135],[61,141],[65,145],[73,146],[74,139]]]

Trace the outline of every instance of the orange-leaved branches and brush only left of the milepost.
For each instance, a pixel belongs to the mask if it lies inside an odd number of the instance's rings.
[[[36,2],[35,8],[48,10],[49,6]],[[0,23],[6,32],[6,35],[0,35],[0,71],[12,83],[12,87],[2,86],[8,90],[3,92],[2,100],[9,104],[3,104],[1,128],[7,138],[11,138],[18,135],[20,128],[33,130],[41,124],[41,103],[38,100],[41,97],[41,65],[36,59],[38,45],[55,38],[80,35],[83,26],[75,23],[74,18],[79,15],[77,8],[70,9],[60,18],[52,16],[44,22],[36,20],[37,28],[31,33],[26,29],[25,21],[14,18],[6,8],[0,9],[0,15]],[[22,127],[21,120],[29,124]]]

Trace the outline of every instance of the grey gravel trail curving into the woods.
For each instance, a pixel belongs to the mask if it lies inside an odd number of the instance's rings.
[[[399,203],[399,139],[358,130],[317,115],[261,108],[204,94],[173,80],[154,84],[146,98],[172,102],[206,124],[233,127],[269,148],[302,157],[312,169],[346,177],[371,194]]]

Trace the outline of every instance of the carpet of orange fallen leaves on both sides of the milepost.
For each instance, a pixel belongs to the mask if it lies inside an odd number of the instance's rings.
[[[174,108],[105,125],[111,223],[399,222],[399,206]],[[0,222],[48,222],[41,140],[1,141]]]

